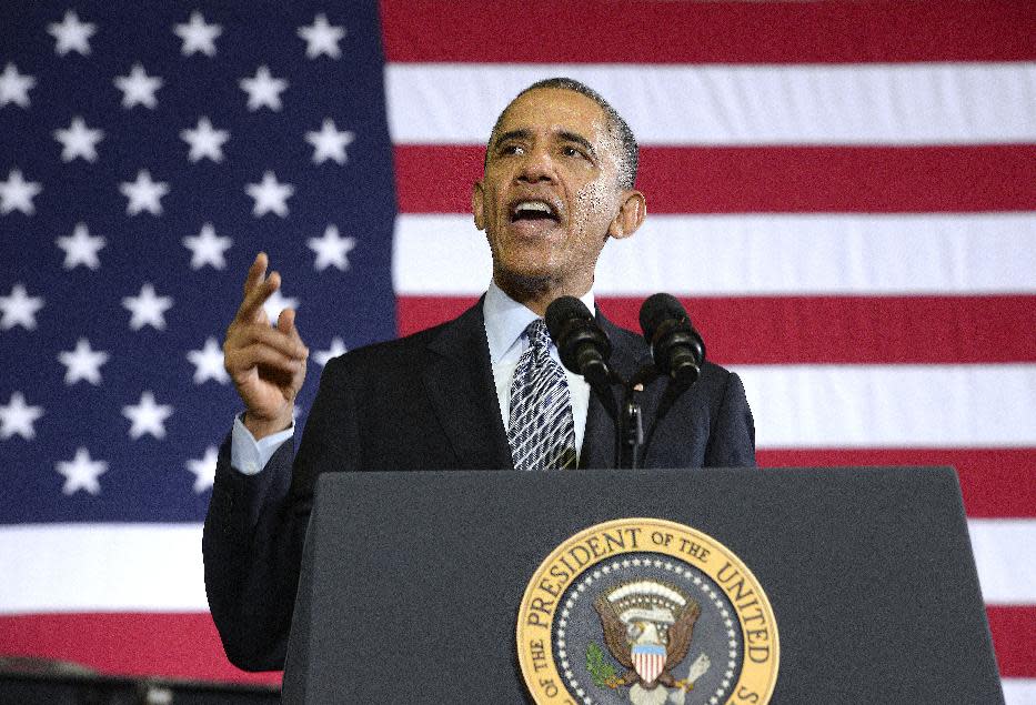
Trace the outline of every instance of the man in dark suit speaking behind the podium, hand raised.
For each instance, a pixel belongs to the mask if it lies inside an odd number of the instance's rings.
[[[614,467],[614,425],[582,377],[562,371],[539,322],[556,298],[593,310],[594,268],[610,238],[646,214],[637,148],[626,123],[585,85],[535,83],[493,128],[474,184],[493,281],[459,319],[331,361],[299,453],[291,412],[308,351],[279,286],[257,256],[224,343],[245,405],[223,444],[205,520],[205,583],[228,656],[252,669],[283,664],[315,477],[368,470]],[[628,376],[644,341],[599,314],[611,364]],[[648,419],[664,380],[644,391]],[[658,424],[645,466],[754,465],[754,429],[736,375],[706,363]]]

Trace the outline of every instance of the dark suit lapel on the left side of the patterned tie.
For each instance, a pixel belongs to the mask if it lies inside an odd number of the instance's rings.
[[[513,470],[490,365],[482,300],[429,343],[424,386],[461,467]]]

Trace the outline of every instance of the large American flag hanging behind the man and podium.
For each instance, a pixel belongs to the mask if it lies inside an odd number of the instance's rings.
[[[482,144],[571,75],[642,144],[601,308],[680,296],[763,465],[956,466],[1036,702],[1036,6],[285,4],[0,10],[0,654],[276,681],[222,657],[200,555],[248,264],[314,351],[304,422],[328,356],[484,290]]]

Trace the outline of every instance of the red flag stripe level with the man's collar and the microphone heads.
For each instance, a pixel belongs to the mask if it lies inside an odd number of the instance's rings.
[[[400,333],[455,315],[474,296],[399,296]],[[600,298],[638,331],[641,298]],[[1036,362],[1036,295],[683,298],[721,364]]]

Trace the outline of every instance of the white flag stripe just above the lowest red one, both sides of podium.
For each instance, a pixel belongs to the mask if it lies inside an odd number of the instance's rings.
[[[968,526],[986,601],[1036,605],[1036,520],[969,520]],[[0,613],[7,614],[209,608],[201,524],[6,526],[0,575]]]

